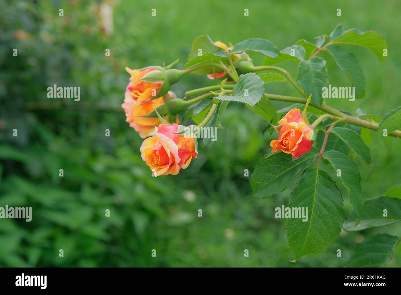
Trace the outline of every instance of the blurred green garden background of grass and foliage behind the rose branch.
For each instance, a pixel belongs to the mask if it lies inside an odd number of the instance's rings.
[[[231,103],[213,155],[200,149],[198,159],[179,175],[157,178],[140,157],[142,139],[125,122],[126,66],[180,58],[177,67],[182,68],[198,35],[227,44],[264,38],[282,49],[298,39],[329,34],[338,23],[381,33],[389,58],[379,64],[371,51],[350,47],[365,71],[367,98],[327,103],[354,115],[362,108],[383,116],[401,104],[401,2],[326,2],[1,1],[0,206],[32,207],[33,216],[32,222],[0,220],[0,266],[341,267],[365,237],[377,232],[401,236],[399,224],[342,232],[326,252],[290,262],[286,222],[274,218],[274,208],[288,204],[289,190],[254,199],[250,177],[244,176],[244,169],[251,174],[270,151],[273,137],[262,134],[263,118]],[[255,65],[263,59],[251,57]],[[327,59],[330,83],[349,85]],[[295,63],[280,66],[296,76]],[[189,75],[172,90],[182,97],[186,90],[211,83]],[[81,87],[81,101],[47,98],[47,87],[54,84]],[[269,84],[268,92],[298,96],[289,83]],[[289,105],[272,104],[277,109]],[[374,171],[362,183],[366,198],[400,183],[400,140],[393,139],[387,152],[377,134],[372,137]],[[348,216],[352,207],[342,191]],[[198,209],[203,217],[197,216]],[[336,257],[337,249],[342,257]],[[398,246],[387,265],[401,266],[400,258]]]

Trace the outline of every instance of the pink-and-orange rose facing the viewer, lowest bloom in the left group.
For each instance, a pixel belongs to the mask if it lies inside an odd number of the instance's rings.
[[[153,175],[176,175],[180,169],[188,167],[195,150],[194,138],[173,134],[180,125],[160,124],[155,127],[155,136],[146,138],[141,146],[142,159],[150,167]]]

